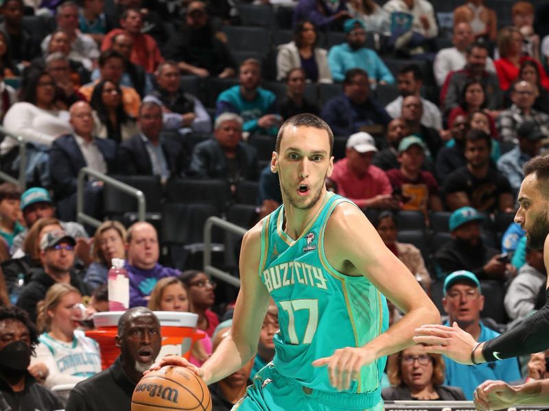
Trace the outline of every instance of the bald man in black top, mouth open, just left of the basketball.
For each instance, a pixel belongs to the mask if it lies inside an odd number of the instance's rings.
[[[130,308],[118,320],[120,355],[106,370],[76,384],[67,410],[130,411],[135,386],[159,355],[160,321],[144,307]]]

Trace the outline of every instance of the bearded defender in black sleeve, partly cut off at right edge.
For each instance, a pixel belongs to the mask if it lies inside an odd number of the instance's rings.
[[[549,270],[549,157],[537,156],[529,160],[523,171],[525,177],[520,186],[515,222],[526,231],[528,247],[544,250],[544,261]],[[479,364],[544,351],[549,347],[549,278],[547,286],[545,305],[517,327],[493,340],[477,343],[454,323],[453,327],[424,325],[416,330],[414,341],[432,345],[424,347],[425,351],[443,353],[462,364]],[[519,401],[548,404],[549,380],[518,387],[504,382],[485,382],[476,389],[475,401],[478,408],[491,410]]]

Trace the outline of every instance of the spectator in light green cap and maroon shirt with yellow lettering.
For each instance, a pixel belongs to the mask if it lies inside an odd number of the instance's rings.
[[[439,184],[434,175],[423,171],[425,144],[421,138],[408,136],[401,140],[398,148],[399,169],[386,171],[393,193],[401,196],[401,210],[418,210],[427,218],[428,210],[442,211]]]

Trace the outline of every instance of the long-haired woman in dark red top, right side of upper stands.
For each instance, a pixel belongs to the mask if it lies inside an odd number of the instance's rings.
[[[449,112],[448,124],[453,124],[457,116],[470,116],[472,119],[474,113],[482,110],[489,119],[488,134],[490,136],[497,136],[498,132],[495,129],[495,122],[491,116],[492,112],[486,108],[487,103],[487,95],[484,86],[482,86],[482,82],[479,82],[476,79],[467,79],[458,99],[458,105]]]

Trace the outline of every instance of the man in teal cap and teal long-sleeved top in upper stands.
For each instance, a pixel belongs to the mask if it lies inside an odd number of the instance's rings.
[[[328,64],[335,82],[342,82],[350,69],[362,69],[368,73],[371,83],[394,84],[390,73],[379,55],[366,47],[366,26],[358,18],[343,24],[346,42],[331,47]]]

